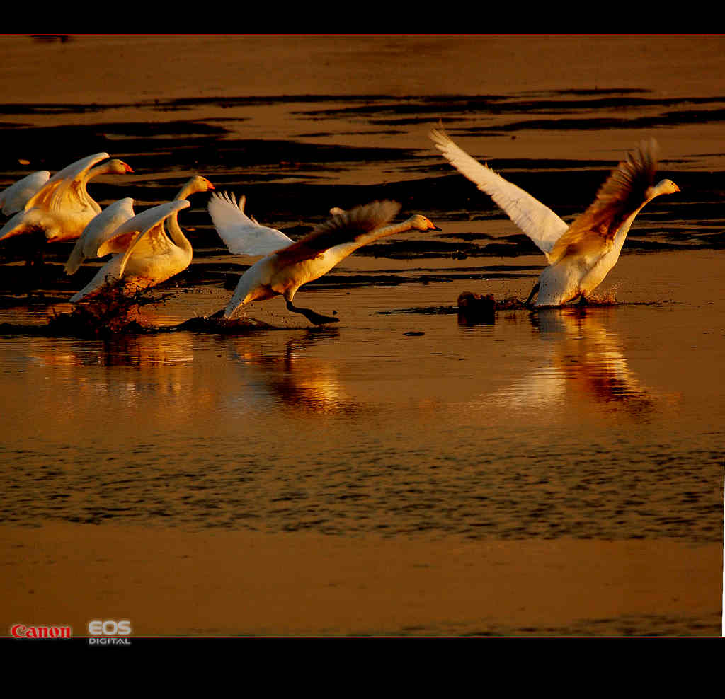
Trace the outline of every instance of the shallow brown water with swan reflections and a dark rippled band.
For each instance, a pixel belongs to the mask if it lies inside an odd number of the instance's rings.
[[[720,540],[721,304],[398,312],[444,288],[310,293],[349,304],[325,329],[5,338],[4,521]]]

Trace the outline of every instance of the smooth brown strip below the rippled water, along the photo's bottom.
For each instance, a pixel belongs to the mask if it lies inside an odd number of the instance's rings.
[[[0,623],[87,635],[716,635],[722,548],[1,527]],[[703,595],[702,590],[711,590]]]

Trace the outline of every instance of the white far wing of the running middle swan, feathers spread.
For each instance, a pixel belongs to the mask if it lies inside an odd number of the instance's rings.
[[[233,194],[213,193],[209,201],[209,214],[219,237],[228,250],[237,255],[268,255],[292,243],[281,230],[258,224],[244,213],[244,196],[239,204]]]

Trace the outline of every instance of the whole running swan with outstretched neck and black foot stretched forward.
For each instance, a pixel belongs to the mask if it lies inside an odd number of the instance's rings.
[[[281,231],[247,217],[244,197],[237,205],[233,195],[212,195],[209,212],[220,238],[229,249],[239,254],[265,255],[241,275],[224,317],[231,318],[239,306],[251,301],[281,295],[287,302],[287,309],[301,313],[315,325],[338,322],[338,318],[294,306],[294,295],[303,284],[319,279],[357,248],[373,240],[407,230],[441,230],[421,214],[402,223],[389,223],[399,210],[400,204],[396,201],[373,201],[357,206],[335,214],[294,243]]]

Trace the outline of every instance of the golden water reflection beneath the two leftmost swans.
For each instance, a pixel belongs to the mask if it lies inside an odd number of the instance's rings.
[[[42,422],[51,419],[59,429],[93,435],[105,429],[99,424],[102,419],[120,432],[123,424],[136,419],[134,414],[149,423],[192,422],[199,411],[220,402],[220,382],[207,380],[198,343],[188,333],[25,342],[27,338],[18,340],[16,361],[32,370],[26,381],[38,386],[39,402],[25,400],[20,406],[42,415]]]

